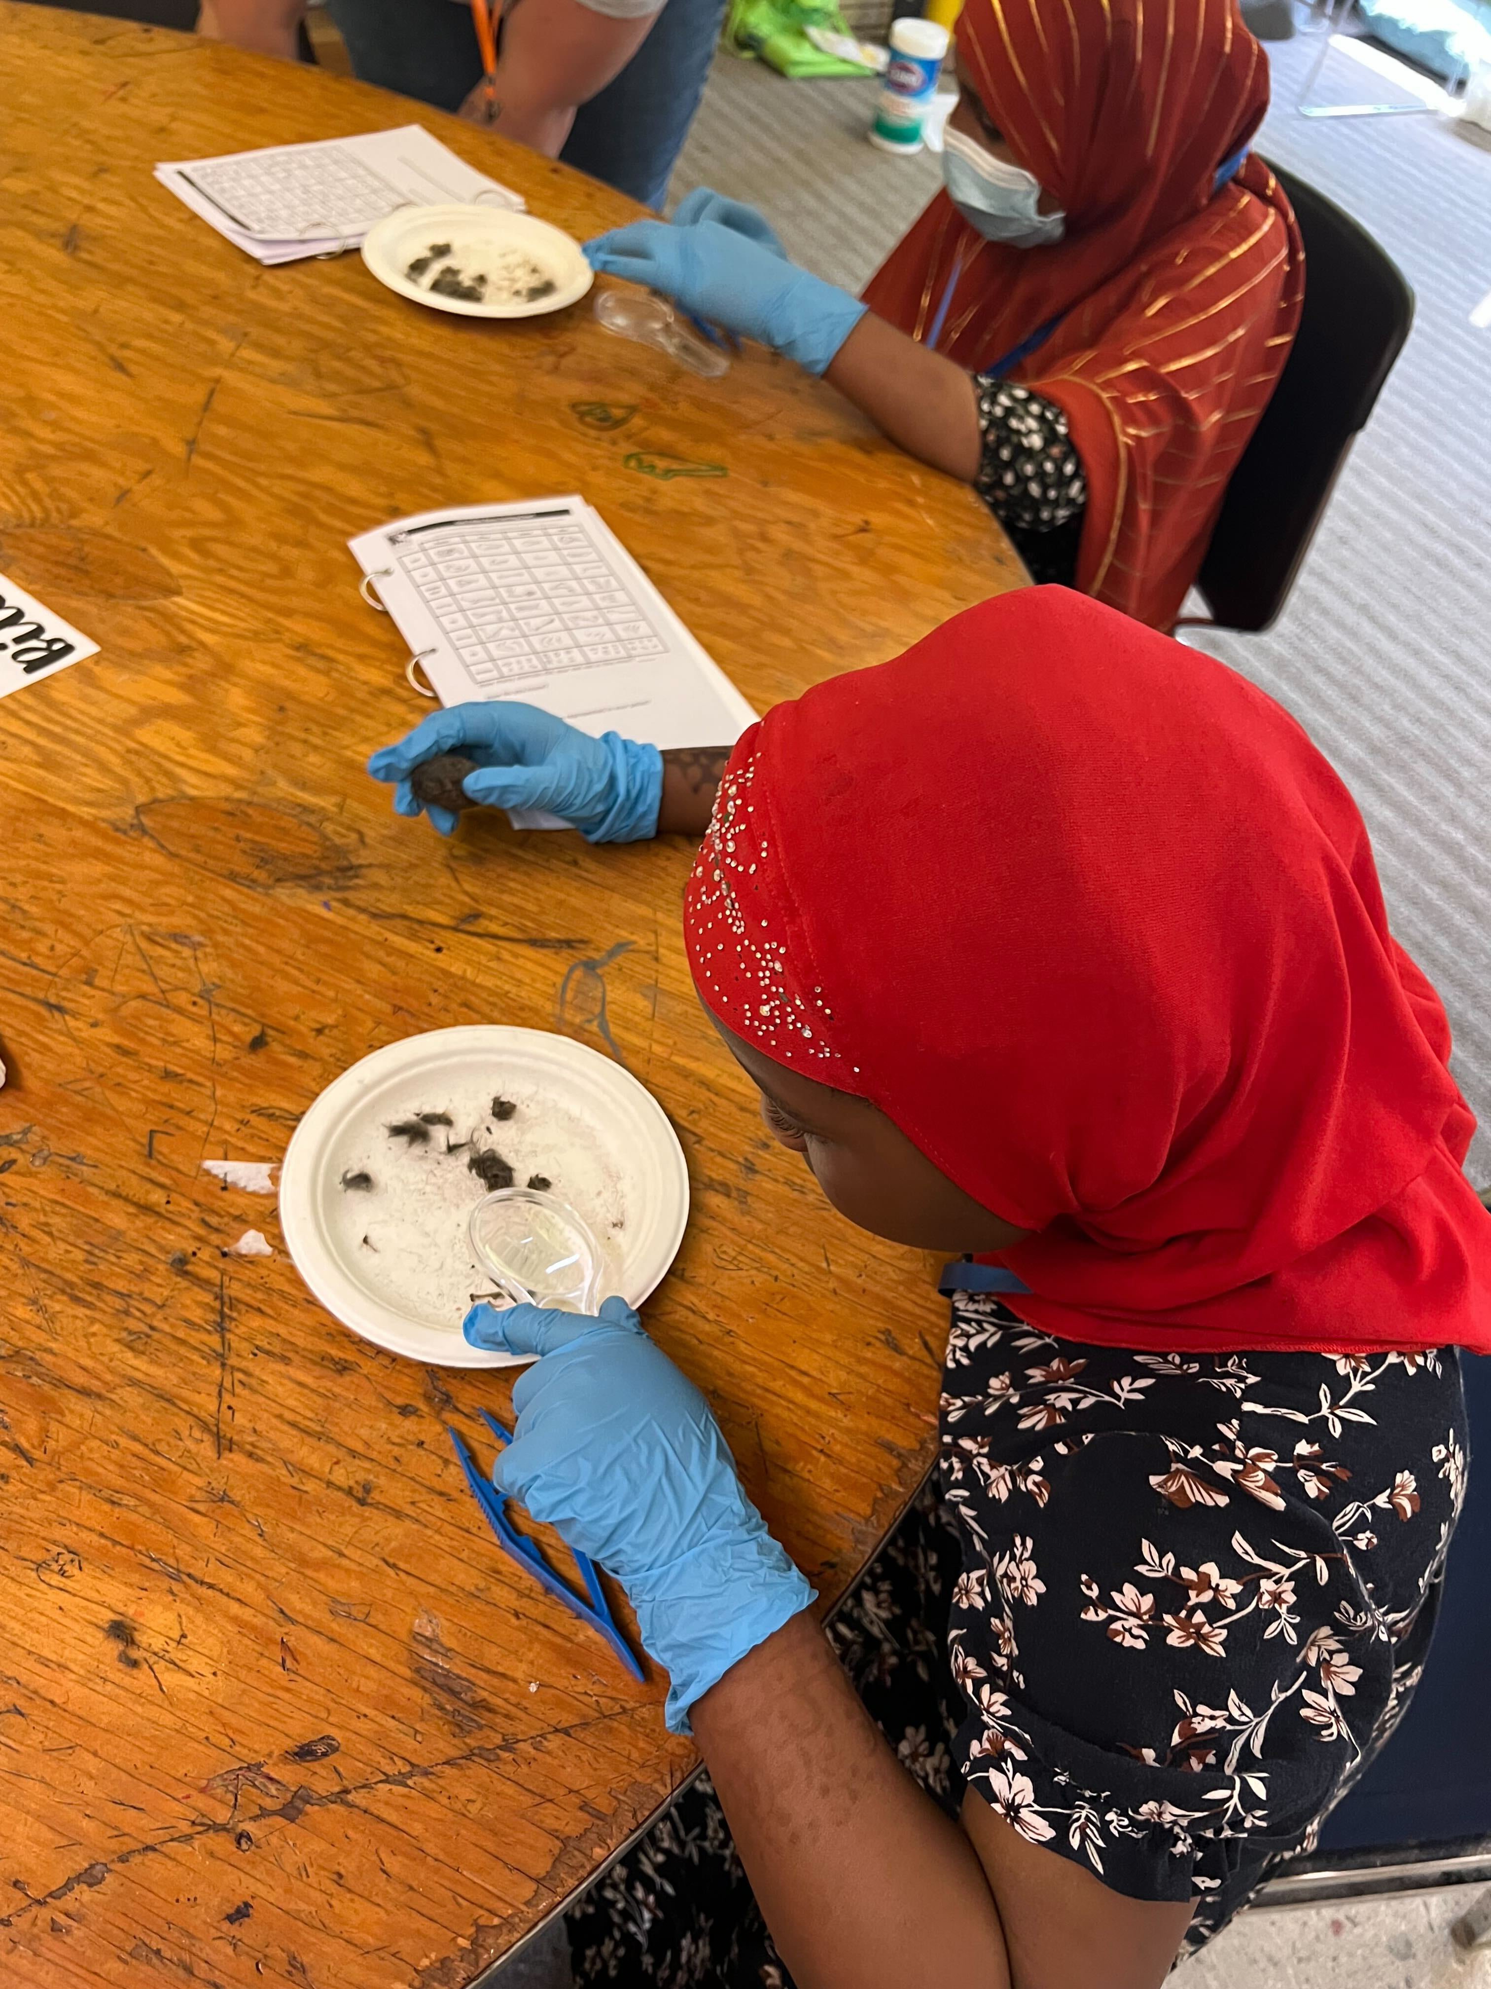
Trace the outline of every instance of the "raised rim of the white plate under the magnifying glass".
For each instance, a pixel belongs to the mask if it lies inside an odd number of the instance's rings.
[[[644,1110],[650,1110],[652,1114],[656,1114],[658,1124],[666,1132],[668,1160],[670,1160],[670,1164],[676,1166],[680,1195],[678,1195],[676,1217],[674,1217],[674,1223],[670,1225],[670,1231],[668,1231],[668,1249],[666,1249],[666,1255],[664,1255],[664,1261],[662,1261],[662,1269],[638,1293],[636,1299],[628,1299],[628,1303],[634,1305],[634,1307],[646,1305],[646,1301],[652,1297],[652,1293],[658,1289],[658,1285],[662,1285],[662,1281],[668,1277],[668,1273],[672,1271],[674,1263],[678,1261],[678,1251],[680,1251],[680,1247],[684,1243],[684,1235],[688,1233],[688,1217],[692,1213],[692,1183],[690,1183],[690,1177],[688,1177],[688,1156],[684,1154],[684,1144],[678,1138],[678,1128],[668,1118],[668,1112],[664,1110],[662,1100],[658,1100],[648,1090],[648,1086],[642,1084],[642,1080],[638,1076],[634,1076],[624,1064],[616,1062],[610,1056],[604,1056],[600,1050],[592,1050],[588,1042],[579,1042],[575,1036],[567,1036],[561,1030],[555,1030],[555,1028],[531,1028],[525,1022],[451,1022],[451,1024],[447,1024],[443,1028],[417,1030],[414,1036],[398,1036],[394,1042],[384,1042],[376,1050],[366,1050],[362,1056],[354,1058],[354,1062],[350,1062],[344,1070],[340,1070],[332,1078],[330,1084],[322,1086],[322,1090],[316,1092],[316,1096],[310,1100],[310,1104],[306,1106],[306,1110],[300,1114],[300,1120],[298,1120],[294,1132],[290,1134],[290,1138],[286,1142],[284,1156],[280,1158],[280,1187],[278,1187],[278,1195],[276,1195],[276,1207],[278,1207],[278,1215],[280,1215],[280,1235],[284,1237],[284,1249],[286,1249],[286,1255],[290,1257],[294,1273],[300,1279],[306,1295],[326,1313],[328,1319],[332,1319],[346,1333],[354,1333],[360,1341],[366,1341],[370,1347],[378,1347],[382,1353],[392,1353],[400,1360],[417,1360],[421,1366],[435,1366],[435,1368],[441,1368],[441,1366],[449,1366],[449,1368],[521,1366],[531,1356],[527,1356],[527,1355],[507,1355],[507,1353],[499,1353],[495,1349],[469,1347],[465,1341],[457,1341],[455,1347],[451,1349],[451,1355],[443,1356],[443,1358],[435,1358],[435,1356],[425,1355],[425,1353],[410,1353],[404,1347],[390,1347],[388,1341],[384,1341],[384,1339],[376,1337],[374,1333],[366,1331],[364,1327],[356,1325],[352,1319],[342,1317],[342,1313],[332,1305],[332,1301],[328,1297],[324,1297],[324,1293],[318,1289],[318,1285],[306,1273],[306,1267],[302,1265],[300,1257],[296,1255],[296,1241],[294,1239],[304,1241],[306,1237],[310,1237],[312,1241],[320,1243],[322,1255],[326,1259],[330,1259],[332,1263],[336,1263],[334,1253],[332,1253],[330,1245],[326,1243],[320,1225],[314,1223],[314,1219],[310,1215],[312,1197],[306,1193],[302,1197],[302,1201],[300,1201],[300,1207],[290,1207],[288,1197],[286,1197],[286,1187],[296,1177],[296,1148],[300,1146],[300,1150],[304,1154],[308,1154],[312,1138],[316,1136],[314,1128],[318,1124],[318,1120],[316,1120],[318,1108],[326,1106],[326,1112],[322,1112],[322,1120],[330,1114],[332,1124],[336,1124],[338,1120],[336,1120],[336,1110],[334,1110],[334,1094],[338,1090],[342,1090],[342,1088],[346,1088],[346,1092],[352,1092],[356,1088],[354,1080],[358,1078],[360,1072],[366,1070],[368,1064],[376,1064],[380,1058],[386,1058],[390,1064],[396,1064],[398,1062],[398,1052],[408,1050],[412,1044],[431,1044],[431,1042],[437,1042],[439,1038],[449,1038],[449,1036],[483,1038],[485,1044],[489,1048],[493,1048],[493,1050],[499,1046],[497,1042],[493,1042],[493,1038],[511,1040],[513,1036],[531,1036],[531,1038],[537,1038],[537,1040],[541,1040],[545,1044],[563,1044],[565,1046],[565,1050],[563,1050],[565,1056],[575,1054],[582,1062],[594,1060],[596,1064],[602,1064],[604,1070],[606,1070],[606,1082],[620,1080],[620,1088],[622,1090],[632,1090],[632,1092],[640,1094]],[[481,1048],[481,1044],[473,1042],[471,1048],[473,1050]],[[374,1076],[380,1076],[380,1072],[374,1072]],[[302,1138],[302,1136],[306,1136],[306,1138]],[[308,1170],[310,1168],[310,1160],[302,1160],[300,1166]],[[314,1175],[312,1175],[312,1179],[314,1179]],[[392,1307],[390,1307],[390,1311],[392,1311]],[[417,1327],[417,1321],[412,1321],[412,1325]]]

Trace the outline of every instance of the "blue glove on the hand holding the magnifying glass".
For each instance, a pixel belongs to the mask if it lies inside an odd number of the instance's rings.
[[[475,1305],[463,1331],[541,1356],[513,1388],[493,1484],[620,1581],[670,1677],[664,1718],[686,1734],[694,1701],[813,1589],[746,1498],[710,1404],[624,1299],[598,1319]]]

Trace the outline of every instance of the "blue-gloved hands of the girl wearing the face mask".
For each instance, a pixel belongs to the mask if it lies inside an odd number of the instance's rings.
[[[789,263],[753,209],[722,201],[708,187],[692,193],[680,215],[690,203],[694,215],[710,219],[632,221],[584,243],[586,261],[602,274],[662,290],[730,332],[775,346],[811,374],[827,372],[865,316],[859,298]]]

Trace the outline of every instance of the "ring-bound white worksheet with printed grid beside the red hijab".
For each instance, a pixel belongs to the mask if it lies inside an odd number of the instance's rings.
[[[515,698],[662,748],[755,720],[582,497],[421,511],[350,545],[441,704]]]

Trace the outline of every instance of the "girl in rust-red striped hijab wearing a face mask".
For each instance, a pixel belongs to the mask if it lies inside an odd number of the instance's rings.
[[[946,187],[863,302],[708,189],[586,253],[825,374],[1032,579],[1169,629],[1300,314],[1268,64],[1235,0],[968,0],[956,52]]]

